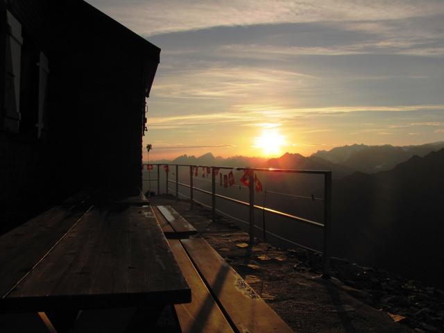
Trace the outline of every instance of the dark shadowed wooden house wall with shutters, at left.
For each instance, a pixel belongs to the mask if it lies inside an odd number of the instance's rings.
[[[160,49],[81,0],[0,0],[0,29],[0,232],[84,187],[141,187]]]

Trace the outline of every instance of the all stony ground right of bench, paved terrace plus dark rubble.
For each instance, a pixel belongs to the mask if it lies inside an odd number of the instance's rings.
[[[250,248],[230,219],[212,221],[207,210],[173,197],[151,203],[172,205],[296,332],[444,332],[443,291],[341,259],[324,280],[316,253]]]

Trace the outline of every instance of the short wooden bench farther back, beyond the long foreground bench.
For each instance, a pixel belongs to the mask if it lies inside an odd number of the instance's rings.
[[[159,222],[168,238],[182,239],[197,234],[197,230],[194,226],[180,216],[173,207],[168,205],[155,206],[153,207],[153,211],[157,218],[157,222]],[[171,232],[171,229],[173,232]]]

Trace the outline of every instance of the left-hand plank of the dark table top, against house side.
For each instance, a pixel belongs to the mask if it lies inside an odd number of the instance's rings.
[[[0,297],[4,297],[91,207],[73,199],[0,237]]]

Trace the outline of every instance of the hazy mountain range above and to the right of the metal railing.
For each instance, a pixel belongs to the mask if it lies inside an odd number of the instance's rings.
[[[331,170],[333,255],[444,287],[437,273],[444,269],[444,142],[355,144],[271,159],[207,153],[170,163]]]

